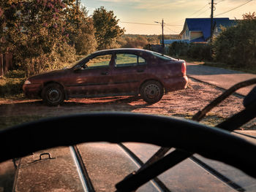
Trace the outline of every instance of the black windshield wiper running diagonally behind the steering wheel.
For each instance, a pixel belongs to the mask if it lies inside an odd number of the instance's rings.
[[[251,80],[246,80],[244,82],[239,82],[236,85],[233,85],[231,88],[227,89],[221,96],[211,101],[203,110],[197,112],[192,120],[200,121],[203,117],[206,116],[206,113],[216,107],[220,102],[224,101],[228,96],[235,93],[239,88],[244,88],[249,85],[256,84],[256,78]],[[256,91],[254,88],[252,91]],[[251,92],[252,92],[251,91]],[[250,93],[249,93],[250,94]],[[249,95],[248,94],[248,95]],[[236,128],[244,125],[256,117],[256,100],[251,102],[251,104],[246,106],[245,110],[238,112],[236,115],[233,115],[231,118],[227,118],[227,120],[219,123],[217,125],[218,128],[222,128],[226,131],[233,131]],[[151,158],[146,161],[143,166],[138,169],[137,172],[132,172],[127,175],[121,182],[116,184],[117,191],[135,191],[141,185],[147,183],[149,180],[157,177],[162,172],[165,172],[167,169],[172,168],[176,164],[184,161],[189,158],[192,153],[188,153],[184,150],[174,150],[172,153],[169,153],[165,156],[165,154],[170,150],[170,147],[160,147],[160,149],[151,156]],[[164,157],[165,156],[165,157]]]

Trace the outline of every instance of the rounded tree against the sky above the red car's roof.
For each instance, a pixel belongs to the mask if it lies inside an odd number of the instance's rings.
[[[92,18],[96,30],[95,37],[98,50],[110,48],[118,37],[124,34],[124,28],[118,26],[118,19],[116,19],[113,11],[108,12],[104,7],[100,7],[94,10]]]

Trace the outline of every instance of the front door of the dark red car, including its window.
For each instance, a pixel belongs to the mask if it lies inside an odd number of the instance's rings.
[[[111,61],[112,54],[92,56],[83,64],[82,69],[72,72],[72,77],[69,78],[69,96],[90,97],[108,93]]]

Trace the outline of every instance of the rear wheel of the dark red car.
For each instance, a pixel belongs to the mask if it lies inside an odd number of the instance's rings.
[[[157,103],[164,95],[164,88],[162,84],[155,80],[144,82],[140,88],[140,96],[148,104]]]

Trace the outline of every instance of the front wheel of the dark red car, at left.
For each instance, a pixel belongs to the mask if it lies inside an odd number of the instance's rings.
[[[57,106],[64,101],[64,89],[57,83],[50,83],[42,89],[42,100],[49,106]]]

